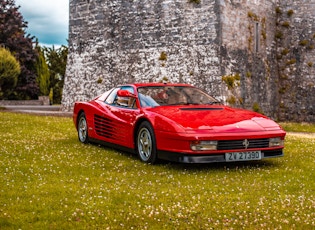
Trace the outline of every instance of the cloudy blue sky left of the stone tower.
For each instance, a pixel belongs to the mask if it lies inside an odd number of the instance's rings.
[[[42,46],[68,45],[69,0],[15,0],[15,5],[28,22],[26,32]]]

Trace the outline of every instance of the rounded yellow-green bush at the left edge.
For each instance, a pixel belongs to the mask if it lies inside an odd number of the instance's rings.
[[[0,47],[0,99],[6,99],[21,73],[19,62],[9,50]]]

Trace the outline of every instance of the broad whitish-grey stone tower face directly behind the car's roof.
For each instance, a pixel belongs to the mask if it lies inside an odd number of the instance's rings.
[[[117,84],[162,79],[222,95],[214,0],[70,1],[70,9],[65,108]]]

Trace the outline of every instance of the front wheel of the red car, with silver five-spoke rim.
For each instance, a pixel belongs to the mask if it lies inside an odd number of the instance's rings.
[[[141,161],[154,164],[157,161],[155,135],[149,122],[140,124],[136,137],[136,151]]]

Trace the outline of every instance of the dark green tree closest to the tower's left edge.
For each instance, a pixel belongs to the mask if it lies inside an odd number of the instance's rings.
[[[62,89],[65,79],[68,47],[61,46],[56,49],[44,48],[45,57],[50,72],[50,88],[53,90],[53,103],[61,103]]]

